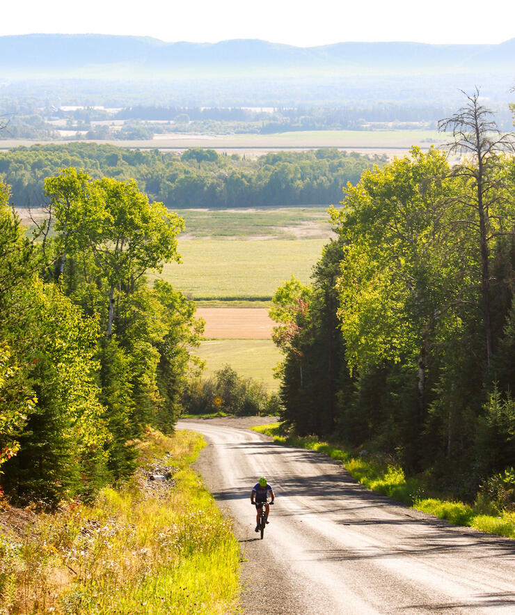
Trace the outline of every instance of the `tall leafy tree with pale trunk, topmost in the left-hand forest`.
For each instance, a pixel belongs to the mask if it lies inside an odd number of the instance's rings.
[[[106,282],[111,338],[116,295],[132,293],[147,270],[180,260],[176,237],[184,222],[162,203],[150,203],[134,181],[91,180],[64,169],[45,181],[45,191],[54,203],[58,243],[67,244],[83,268],[95,267],[90,277],[100,275]]]

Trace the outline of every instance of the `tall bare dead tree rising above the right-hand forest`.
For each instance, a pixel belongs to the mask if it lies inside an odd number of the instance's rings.
[[[463,91],[462,91],[463,92]],[[463,92],[468,102],[454,116],[440,120],[438,130],[450,132],[452,141],[447,143],[450,154],[464,155],[452,169],[453,176],[460,176],[473,184],[473,195],[464,192],[459,202],[469,208],[477,219],[468,224],[477,228],[480,242],[481,295],[486,336],[486,361],[492,357],[492,329],[490,309],[489,240],[491,240],[491,208],[505,196],[502,194],[505,178],[499,173],[502,153],[515,152],[513,133],[502,133],[493,114],[480,103],[480,91]],[[456,199],[454,199],[456,201]]]

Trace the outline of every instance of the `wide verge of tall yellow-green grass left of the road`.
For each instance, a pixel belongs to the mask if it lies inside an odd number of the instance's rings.
[[[189,467],[203,446],[195,433],[149,430],[123,488],[0,534],[0,613],[237,611],[238,543]]]

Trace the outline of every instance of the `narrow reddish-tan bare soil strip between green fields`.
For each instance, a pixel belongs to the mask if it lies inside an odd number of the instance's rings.
[[[205,320],[206,338],[271,339],[274,322],[262,308],[197,308]]]

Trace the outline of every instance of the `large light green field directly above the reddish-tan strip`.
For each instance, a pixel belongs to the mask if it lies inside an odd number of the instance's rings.
[[[180,240],[182,264],[169,263],[160,277],[192,299],[262,299],[292,274],[303,282],[322,254],[326,239]]]

